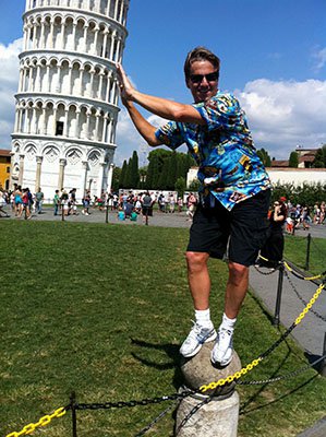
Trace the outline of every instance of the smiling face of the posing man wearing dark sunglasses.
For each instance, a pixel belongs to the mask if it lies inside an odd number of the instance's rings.
[[[209,61],[195,61],[191,64],[186,86],[194,102],[207,102],[217,93],[218,80],[215,78],[216,68]],[[207,74],[210,74],[210,76]],[[212,79],[212,80],[210,80]]]

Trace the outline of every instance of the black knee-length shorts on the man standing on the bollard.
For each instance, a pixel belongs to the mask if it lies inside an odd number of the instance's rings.
[[[190,228],[186,250],[207,252],[213,258],[252,265],[264,246],[269,222],[267,218],[270,190],[237,203],[228,211],[220,202],[214,208],[197,206]]]

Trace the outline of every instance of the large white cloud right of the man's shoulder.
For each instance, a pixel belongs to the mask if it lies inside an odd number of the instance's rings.
[[[298,144],[326,143],[326,81],[249,82],[237,95],[245,109],[257,149],[288,158]]]

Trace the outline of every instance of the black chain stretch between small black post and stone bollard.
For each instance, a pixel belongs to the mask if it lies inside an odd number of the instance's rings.
[[[111,410],[111,409],[124,409],[124,408],[133,408],[137,405],[150,405],[155,403],[161,403],[166,401],[177,401],[179,399],[184,399],[191,394],[194,394],[195,391],[186,390],[182,393],[173,393],[169,395],[164,395],[159,398],[149,398],[142,399],[141,401],[119,401],[119,402],[104,402],[104,403],[76,403],[74,405],[75,410]]]

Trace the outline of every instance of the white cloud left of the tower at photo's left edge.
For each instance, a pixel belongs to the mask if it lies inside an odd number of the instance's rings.
[[[9,46],[0,44],[0,149],[10,149],[14,126],[14,94],[19,85],[19,54],[22,51],[23,38]]]

